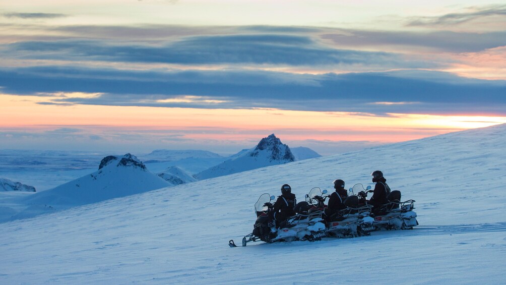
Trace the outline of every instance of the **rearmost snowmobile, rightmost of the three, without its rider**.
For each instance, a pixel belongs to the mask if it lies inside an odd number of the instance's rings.
[[[359,205],[367,205],[367,193],[372,193],[370,186],[366,189],[362,184],[355,184],[350,188],[350,192],[358,191]],[[398,229],[413,229],[418,225],[416,220],[416,213],[414,209],[414,200],[406,200],[401,202],[401,192],[399,190],[391,191],[387,195],[388,203],[383,205],[371,216],[374,218],[374,230],[398,230]]]

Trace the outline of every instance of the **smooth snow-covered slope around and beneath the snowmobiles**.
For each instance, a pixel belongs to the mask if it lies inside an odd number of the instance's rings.
[[[229,248],[260,194],[370,182],[382,170],[419,226]],[[500,284],[506,125],[272,166],[1,224],[0,282]],[[240,243],[240,242],[239,242]]]

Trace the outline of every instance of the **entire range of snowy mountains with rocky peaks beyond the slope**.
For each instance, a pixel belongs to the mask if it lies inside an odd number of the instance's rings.
[[[305,147],[294,148],[292,151],[274,134],[260,140],[257,146],[229,157],[202,150],[159,149],[145,155],[146,161],[149,161],[145,164],[130,153],[122,156],[108,155],[102,158],[97,171],[48,190],[24,195],[17,204],[12,203],[0,209],[0,221],[28,218],[111,198],[319,156]],[[212,166],[205,167],[212,162]],[[46,163],[51,165],[50,160]],[[192,175],[191,171],[180,167],[181,165],[193,165],[190,169],[200,169],[200,172]],[[35,188],[0,179],[0,190],[34,192]]]

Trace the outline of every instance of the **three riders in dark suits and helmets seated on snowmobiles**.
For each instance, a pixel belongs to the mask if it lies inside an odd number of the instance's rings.
[[[385,205],[387,195],[390,193],[390,187],[387,184],[387,179],[383,177],[383,172],[376,170],[371,173],[372,182],[376,183],[374,186],[372,197],[366,200],[366,204],[372,206],[372,213],[377,213],[382,205]],[[346,208],[345,199],[348,197],[348,191],[345,189],[345,182],[342,179],[333,181],[335,191],[330,194],[327,207],[324,209],[326,217],[331,217],[335,213]],[[270,220],[275,221],[276,224],[281,224],[291,216],[296,215],[294,210],[297,205],[295,194],[291,192],[291,187],[288,184],[281,186],[281,195],[278,196],[273,205],[273,211],[270,212]]]

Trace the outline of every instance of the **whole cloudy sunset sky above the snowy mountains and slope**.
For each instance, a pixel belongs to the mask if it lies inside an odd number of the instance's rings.
[[[0,0],[0,148],[329,155],[506,123],[500,1]]]

